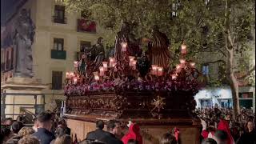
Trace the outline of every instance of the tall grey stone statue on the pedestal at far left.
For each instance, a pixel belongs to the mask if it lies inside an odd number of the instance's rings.
[[[26,9],[22,9],[14,26],[14,50],[16,51],[14,76],[23,78],[32,78],[34,76],[31,48],[34,42],[34,29],[35,26],[29,12]]]

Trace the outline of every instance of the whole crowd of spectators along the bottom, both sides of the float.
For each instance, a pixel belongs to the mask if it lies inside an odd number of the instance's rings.
[[[256,144],[254,129],[255,115],[252,111],[242,109],[237,118],[233,118],[232,110],[206,108],[195,110],[202,122],[202,144]],[[104,129],[106,126],[106,130]],[[1,142],[6,144],[142,144],[142,134],[138,124],[129,122],[126,134],[122,133],[121,123],[116,120],[96,122],[96,130],[86,134],[86,138],[78,142],[66,120],[50,111],[44,111],[34,118],[33,126],[25,126],[23,122],[5,118],[1,125]],[[181,131],[182,133],[182,131]],[[174,128],[163,134],[160,144],[180,144],[179,130]]]

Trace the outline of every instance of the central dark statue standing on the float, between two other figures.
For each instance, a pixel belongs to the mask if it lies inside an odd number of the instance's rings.
[[[114,57],[116,60],[120,60],[124,57],[124,52],[122,51],[122,44],[127,43],[126,53],[129,56],[140,56],[142,50],[139,45],[141,43],[141,38],[135,39],[134,34],[132,34],[130,24],[128,22],[122,23],[122,28],[118,32],[114,42]]]

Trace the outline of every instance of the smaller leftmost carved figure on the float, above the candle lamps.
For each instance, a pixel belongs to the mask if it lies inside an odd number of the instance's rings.
[[[91,58],[94,59],[94,68],[98,70],[98,67],[102,65],[105,59],[105,50],[103,46],[103,38],[98,38],[97,44],[92,46]]]

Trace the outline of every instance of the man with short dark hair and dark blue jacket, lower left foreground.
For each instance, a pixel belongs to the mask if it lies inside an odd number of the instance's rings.
[[[55,139],[54,134],[50,132],[52,126],[52,115],[47,112],[38,114],[38,131],[33,135],[40,140],[41,144],[49,144]]]

